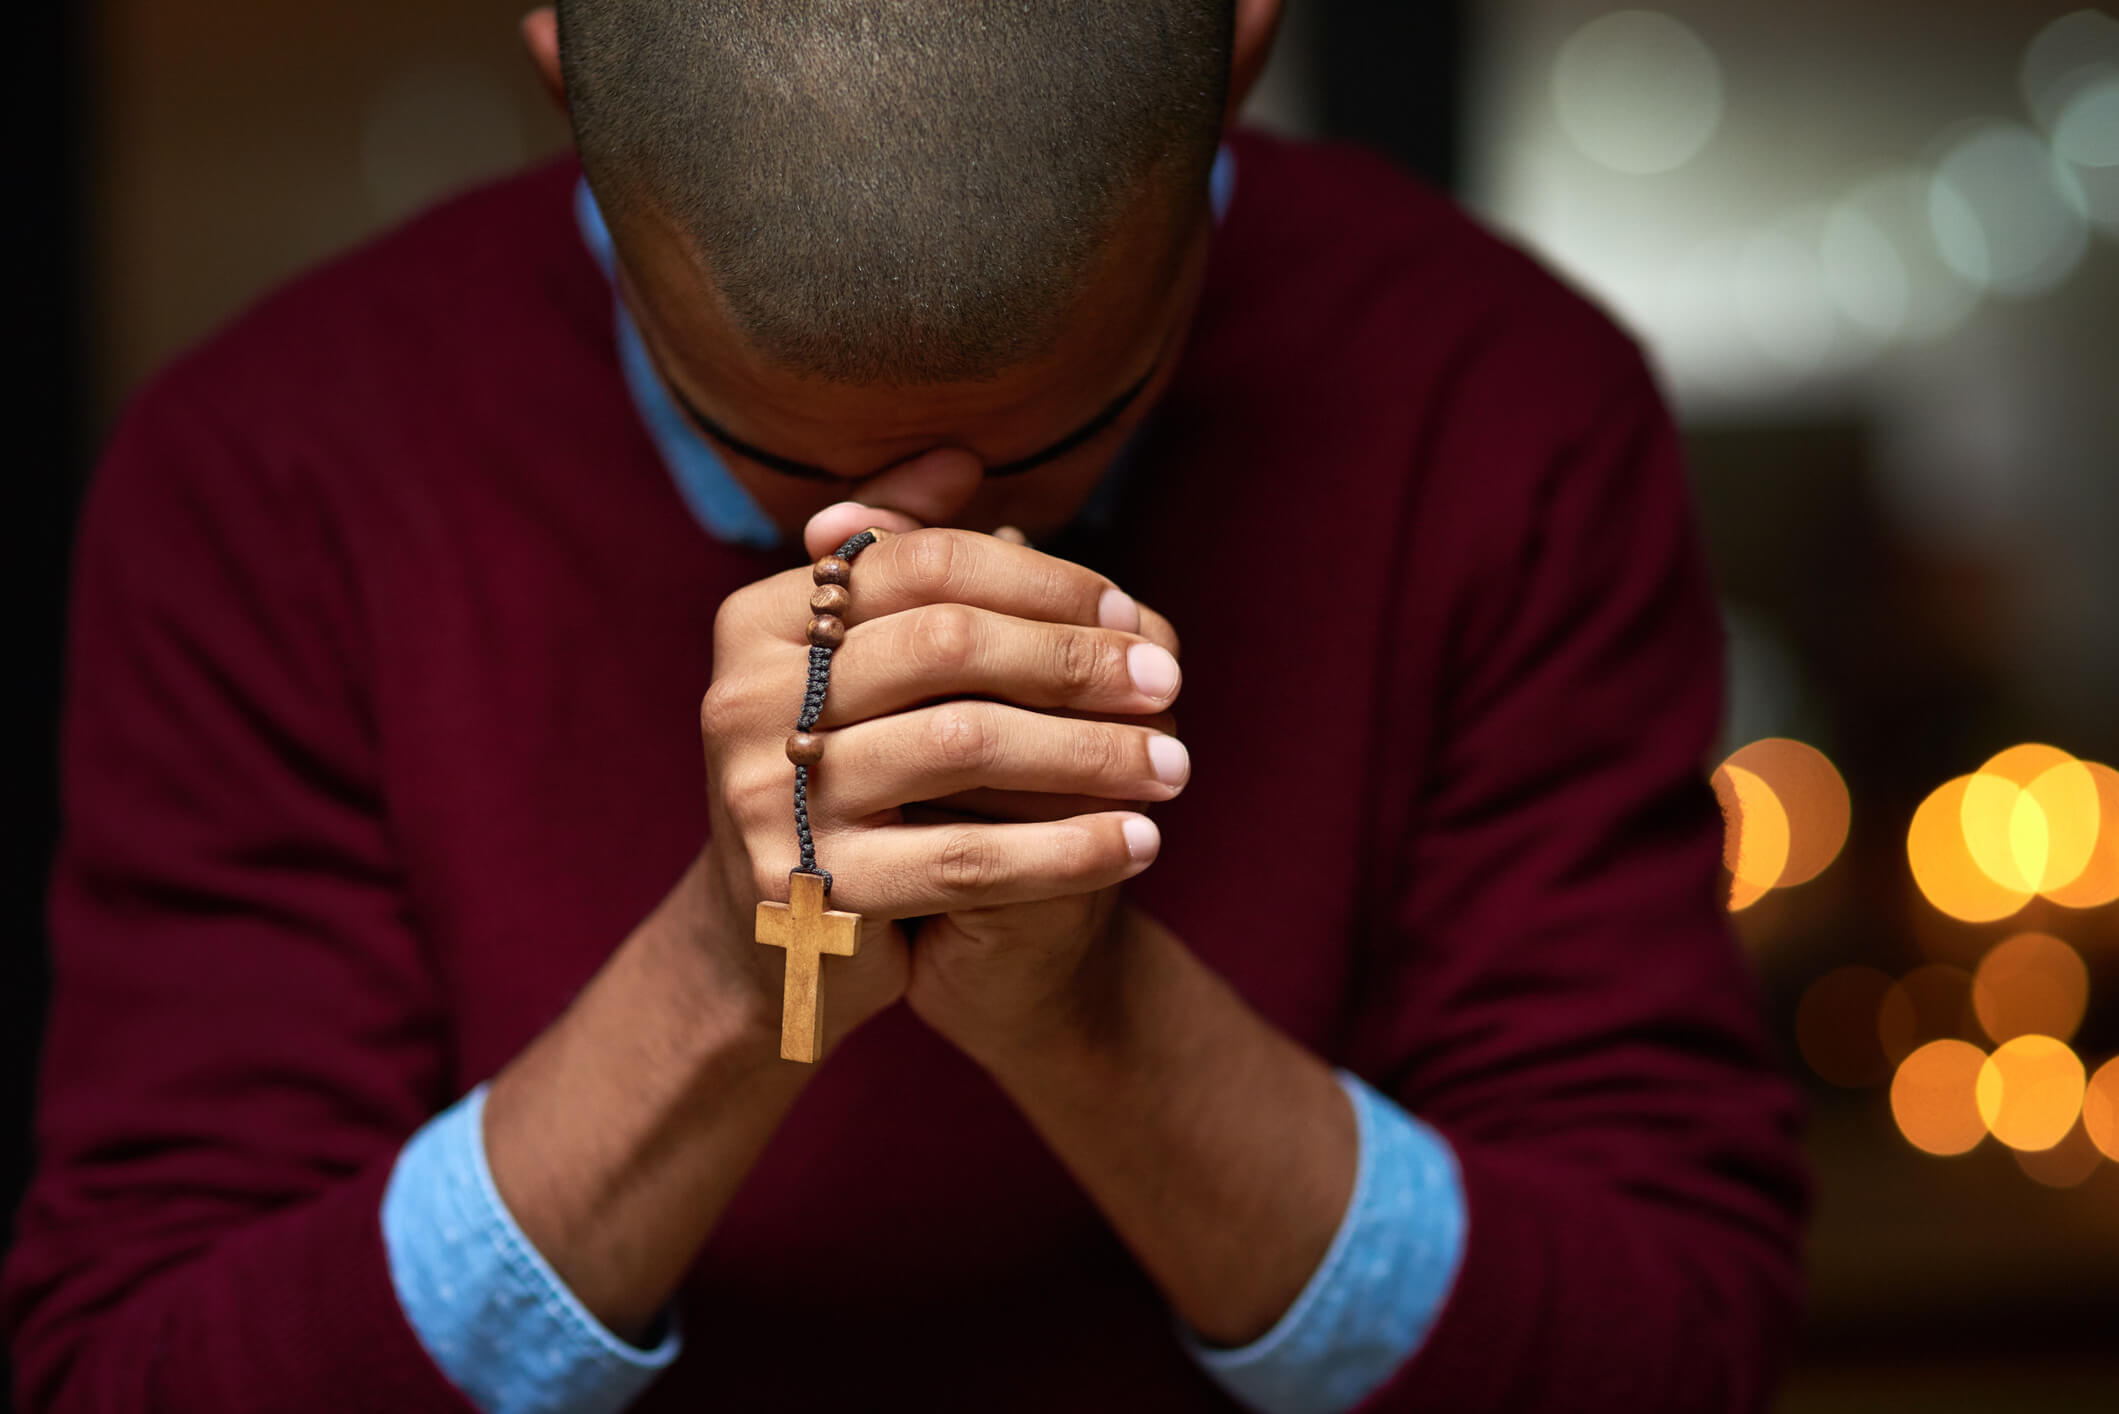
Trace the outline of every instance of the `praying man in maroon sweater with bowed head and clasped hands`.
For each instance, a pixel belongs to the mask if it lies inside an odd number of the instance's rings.
[[[1803,1181],[1668,418],[1441,199],[1221,144],[1274,21],[574,0],[578,172],[138,396],[28,1408],[1765,1401]],[[754,909],[869,526],[812,1068]]]

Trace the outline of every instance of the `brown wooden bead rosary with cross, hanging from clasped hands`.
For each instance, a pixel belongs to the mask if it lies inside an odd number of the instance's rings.
[[[824,1005],[818,996],[822,958],[850,958],[860,952],[860,914],[826,909],[831,869],[816,863],[816,839],[809,837],[809,770],[824,759],[824,738],[809,731],[824,710],[824,687],[831,681],[831,651],[845,642],[845,608],[854,602],[848,581],[854,555],[884,538],[884,530],[862,530],[837,553],[818,560],[809,575],[816,591],[809,596],[809,687],[803,691],[801,717],[788,738],[788,761],[795,763],[795,833],[801,835],[801,863],[788,869],[788,901],[759,903],[759,941],[786,948],[788,975],[780,998],[780,1056],[816,1062],[824,1043]]]

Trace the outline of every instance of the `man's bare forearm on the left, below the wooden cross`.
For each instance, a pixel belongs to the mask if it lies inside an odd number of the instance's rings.
[[[695,867],[697,873],[697,867]],[[640,1336],[795,1104],[769,1018],[714,984],[718,909],[687,880],[494,1077],[485,1149],[509,1213],[612,1331]]]

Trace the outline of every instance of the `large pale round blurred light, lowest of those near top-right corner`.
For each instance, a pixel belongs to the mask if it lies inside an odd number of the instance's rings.
[[[2081,182],[2015,123],[1979,127],[1943,157],[1928,220],[1952,269],[1998,295],[2043,295],[2089,248]]]

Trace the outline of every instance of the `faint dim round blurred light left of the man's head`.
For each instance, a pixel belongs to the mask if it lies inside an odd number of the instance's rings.
[[[526,157],[515,102],[483,66],[400,70],[360,119],[360,176],[386,220]]]

